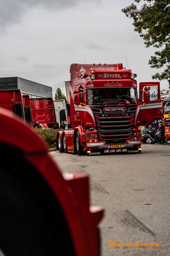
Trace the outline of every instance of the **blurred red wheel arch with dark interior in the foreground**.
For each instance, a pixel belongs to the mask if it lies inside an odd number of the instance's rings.
[[[89,178],[62,175],[39,136],[0,108],[0,254],[99,256]],[[12,127],[12,129],[11,129]]]

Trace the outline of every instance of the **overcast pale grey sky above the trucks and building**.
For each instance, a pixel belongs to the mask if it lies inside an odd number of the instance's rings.
[[[151,82],[156,69],[132,19],[121,12],[133,0],[0,0],[0,77],[18,76],[57,87],[70,80],[70,65],[114,64]],[[158,70],[159,72],[159,70]],[[160,82],[161,90],[168,82]]]

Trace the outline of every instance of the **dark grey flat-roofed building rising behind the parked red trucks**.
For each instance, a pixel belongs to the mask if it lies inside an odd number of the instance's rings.
[[[0,78],[0,90],[20,89],[22,94],[28,94],[30,98],[53,97],[52,87],[31,82],[20,77]]]

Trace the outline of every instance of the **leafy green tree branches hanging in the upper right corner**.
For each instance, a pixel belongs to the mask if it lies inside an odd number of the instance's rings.
[[[134,0],[139,4],[141,0]],[[137,5],[131,4],[121,11],[129,18],[133,18],[134,31],[145,40],[148,48],[153,46],[159,48],[151,56],[149,65],[151,68],[162,68],[162,73],[156,72],[152,79],[170,78],[170,0],[143,0],[144,4],[140,9]]]

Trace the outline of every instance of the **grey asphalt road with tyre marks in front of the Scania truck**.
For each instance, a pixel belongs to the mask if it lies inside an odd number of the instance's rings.
[[[91,204],[105,208],[102,256],[170,256],[170,144],[142,144],[141,154],[49,154],[62,172],[90,175]]]

